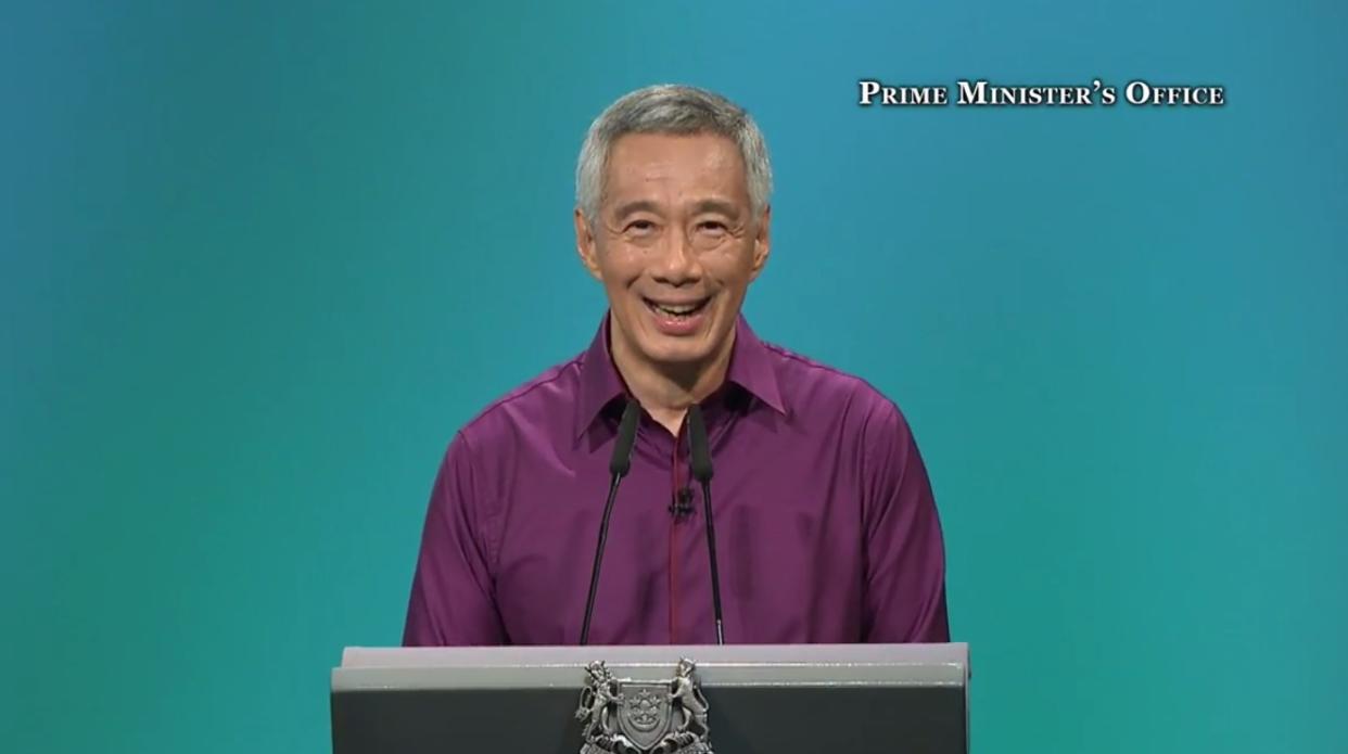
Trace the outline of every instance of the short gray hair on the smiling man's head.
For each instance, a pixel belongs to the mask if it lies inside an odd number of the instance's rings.
[[[576,205],[593,225],[604,195],[604,171],[613,143],[628,133],[716,133],[733,141],[744,160],[749,210],[760,218],[772,194],[772,164],[758,124],[744,108],[720,94],[661,83],[638,89],[608,106],[585,135],[576,163]]]

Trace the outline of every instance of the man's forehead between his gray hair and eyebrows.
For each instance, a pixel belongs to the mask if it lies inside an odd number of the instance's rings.
[[[717,194],[747,201],[744,159],[717,133],[628,133],[613,143],[605,199],[667,193]]]

